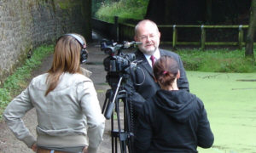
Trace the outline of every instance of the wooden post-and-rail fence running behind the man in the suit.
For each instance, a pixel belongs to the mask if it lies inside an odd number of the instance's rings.
[[[122,40],[133,40],[134,37],[134,28],[135,25],[127,24],[127,23],[118,23],[118,18],[115,17],[115,23],[113,26],[116,26],[116,32],[114,36],[117,41]],[[226,46],[237,46],[238,48],[242,48],[245,46],[244,42],[244,31],[247,30],[247,25],[236,25],[236,26],[213,26],[213,25],[159,25],[160,31],[162,28],[166,28],[169,33],[172,33],[172,38],[166,39],[165,41],[161,41],[163,44],[172,44],[173,48],[176,48],[177,45],[196,45],[200,46],[201,49],[205,49],[206,45],[226,45]],[[183,28],[189,29],[197,29],[199,31],[201,37],[198,41],[178,41],[178,31],[182,31]],[[237,33],[237,41],[233,42],[207,42],[207,31],[216,29],[232,29],[238,31]],[[221,31],[219,31],[221,32]]]

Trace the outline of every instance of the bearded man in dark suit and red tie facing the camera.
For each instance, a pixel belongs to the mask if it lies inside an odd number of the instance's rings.
[[[131,71],[131,80],[125,85],[125,89],[129,93],[129,98],[137,116],[146,99],[153,96],[160,89],[160,85],[154,81],[152,69],[152,64],[160,56],[167,55],[177,60],[180,70],[180,78],[177,80],[179,89],[189,92],[189,82],[179,55],[159,48],[160,31],[153,21],[140,21],[135,27],[134,39],[136,42],[142,42],[138,45],[135,53],[136,59],[142,60],[142,62],[137,65],[136,70]]]

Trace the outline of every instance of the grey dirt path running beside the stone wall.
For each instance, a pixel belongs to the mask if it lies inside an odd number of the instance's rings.
[[[93,34],[96,39],[97,36]],[[105,92],[109,88],[108,83],[105,80],[106,71],[102,65],[103,59],[107,56],[99,48],[99,42],[94,41],[88,44],[89,58],[88,64],[83,65],[86,69],[92,71],[90,79],[94,82],[96,91],[98,93],[98,99],[101,105],[103,105],[105,99]],[[33,76],[38,76],[45,71],[49,70],[49,66],[52,62],[52,54],[45,58],[42,65],[35,71]],[[36,136],[35,127],[37,126],[37,116],[35,109],[26,113],[23,117],[23,121],[26,127]],[[104,141],[102,142],[99,153],[111,152],[111,138],[110,138],[110,120],[106,121],[106,127],[104,132]],[[10,132],[5,122],[0,123],[0,153],[32,153],[33,151],[26,147],[26,144],[15,139],[13,133]]]

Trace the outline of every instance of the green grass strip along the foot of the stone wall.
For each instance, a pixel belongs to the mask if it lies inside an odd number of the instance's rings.
[[[48,54],[53,53],[53,45],[42,45],[33,51],[32,57],[26,59],[24,65],[18,67],[16,71],[9,76],[0,88],[0,121],[5,107],[9,104],[11,99],[26,88],[28,82],[32,77],[32,71],[41,65],[41,60]]]

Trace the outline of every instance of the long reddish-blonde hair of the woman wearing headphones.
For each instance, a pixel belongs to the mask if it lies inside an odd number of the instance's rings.
[[[84,37],[80,35],[78,36],[84,40]],[[80,69],[81,49],[81,44],[74,37],[64,35],[57,40],[53,62],[48,71],[49,76],[46,80],[46,83],[49,84],[49,88],[47,89],[45,96],[57,87],[62,73],[82,73]]]

